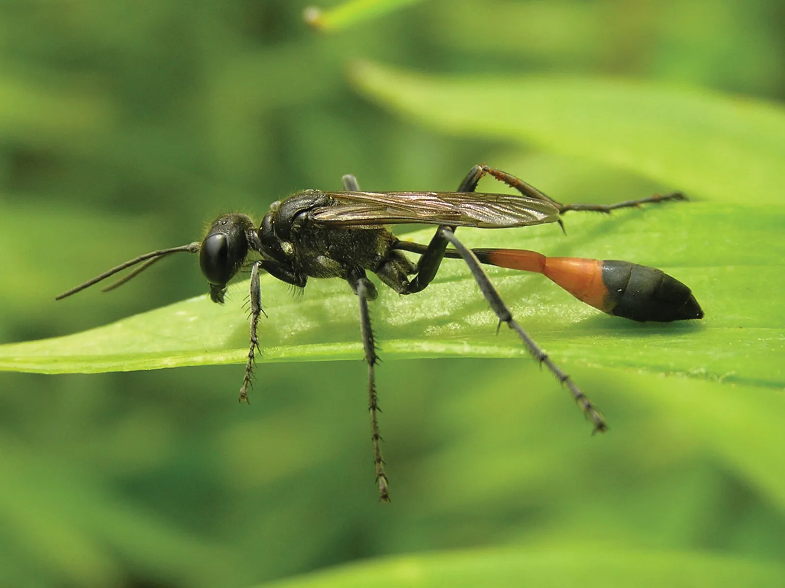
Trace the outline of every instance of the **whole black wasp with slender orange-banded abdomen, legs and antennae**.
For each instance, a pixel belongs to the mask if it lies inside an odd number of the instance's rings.
[[[476,192],[480,178],[485,175],[509,185],[518,194]],[[368,312],[368,302],[377,298],[378,291],[368,279],[368,272],[399,294],[414,294],[428,287],[445,257],[462,259],[498,317],[497,331],[506,323],[518,334],[531,356],[569,390],[586,418],[593,423],[594,432],[604,432],[608,428],[604,417],[568,374],[513,319],[482,264],[541,273],[586,304],[630,320],[670,322],[703,318],[703,310],[692,291],[656,268],[629,261],[546,257],[528,250],[469,249],[455,236],[458,227],[507,228],[555,222],[564,229],[561,217],[571,210],[608,214],[644,203],[684,200],[681,192],[610,205],[562,204],[525,181],[485,165],[473,166],[456,192],[362,192],[352,175],[343,177],[343,187],[344,192],[305,190],[274,202],[258,228],[245,214],[221,215],[210,225],[201,242],[135,257],[60,294],[57,300],[141,264],[105,288],[111,290],[162,257],[187,252],[199,254],[199,265],[210,285],[210,299],[221,304],[227,284],[246,267],[251,257],[250,342],[239,393],[239,400],[247,402],[257,352],[261,353],[257,338],[257,324],[264,313],[261,272],[299,288],[305,287],[309,278],[344,279],[357,295],[360,306],[374,470],[382,502],[389,501],[389,484],[382,459],[374,380],[374,366],[379,358]],[[436,234],[427,245],[401,241],[388,228],[400,223],[437,225]],[[418,261],[411,261],[405,252],[418,254]]]

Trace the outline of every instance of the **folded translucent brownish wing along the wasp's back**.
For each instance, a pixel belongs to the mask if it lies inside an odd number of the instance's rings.
[[[319,225],[368,226],[424,223],[505,228],[556,222],[545,200],[482,192],[325,192],[334,201],[311,210]]]

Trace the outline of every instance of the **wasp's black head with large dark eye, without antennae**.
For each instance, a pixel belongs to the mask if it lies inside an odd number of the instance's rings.
[[[211,292],[224,288],[243,265],[248,254],[246,232],[253,226],[245,214],[225,214],[210,226],[199,250],[199,265]]]

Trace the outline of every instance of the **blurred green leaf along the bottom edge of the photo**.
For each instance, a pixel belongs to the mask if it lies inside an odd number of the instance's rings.
[[[782,586],[775,564],[707,553],[487,550],[433,553],[349,564],[267,584],[295,586]]]

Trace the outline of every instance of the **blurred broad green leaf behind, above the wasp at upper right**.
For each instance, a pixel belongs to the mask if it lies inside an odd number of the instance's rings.
[[[715,200],[782,203],[785,110],[652,82],[444,78],[363,63],[372,100],[447,133],[595,159]]]

